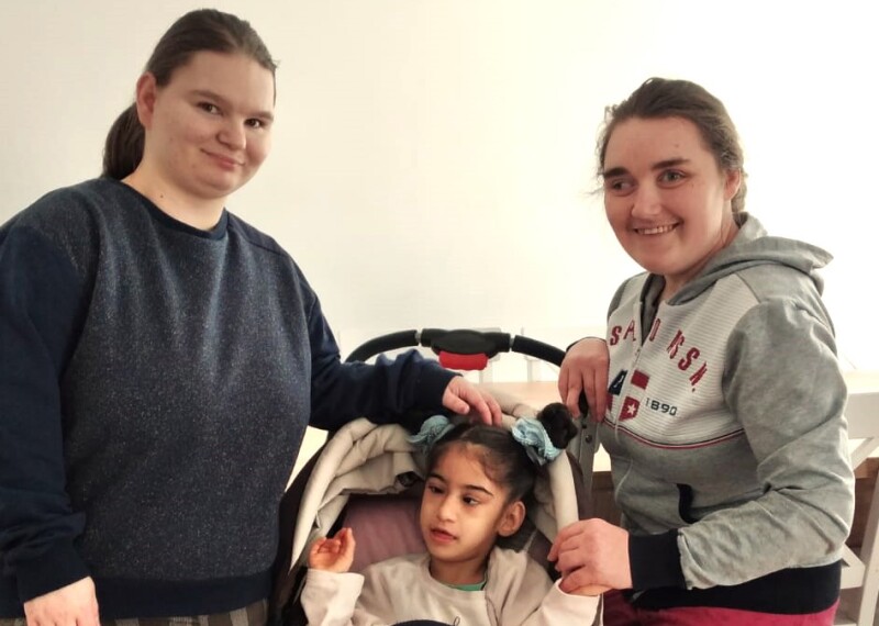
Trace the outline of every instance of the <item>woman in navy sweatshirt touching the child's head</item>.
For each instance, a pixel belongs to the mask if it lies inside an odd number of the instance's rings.
[[[103,176],[0,227],[0,617],[265,622],[307,426],[439,405],[499,422],[414,351],[342,364],[296,262],[225,210],[268,155],[274,109],[249,24],[187,13]]]

